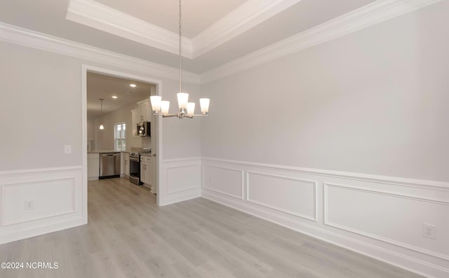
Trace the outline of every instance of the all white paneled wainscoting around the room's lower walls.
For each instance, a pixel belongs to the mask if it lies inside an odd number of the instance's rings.
[[[202,196],[427,277],[449,277],[448,183],[213,158],[162,167],[159,205]],[[82,176],[82,167],[0,172],[0,244],[87,223]],[[423,237],[424,223],[436,227],[435,239]]]

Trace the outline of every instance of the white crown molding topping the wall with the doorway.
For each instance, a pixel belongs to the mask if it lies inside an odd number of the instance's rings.
[[[56,36],[8,25],[4,22],[0,22],[0,41],[46,50],[52,53],[76,57],[89,62],[97,62],[130,71],[138,71],[144,76],[159,76],[173,80],[178,80],[179,78],[179,69],[177,68],[114,53],[101,48],[94,48],[93,46],[61,39]],[[182,80],[187,83],[198,84],[200,82],[199,75],[189,71],[183,71],[182,77]]]

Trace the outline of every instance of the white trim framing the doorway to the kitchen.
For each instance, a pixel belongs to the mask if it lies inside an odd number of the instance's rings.
[[[82,165],[83,165],[83,196],[82,196],[82,211],[83,211],[83,222],[87,223],[87,186],[88,186],[88,176],[87,176],[87,74],[88,72],[93,72],[96,74],[104,74],[108,76],[114,76],[119,78],[128,78],[134,81],[142,81],[145,83],[152,83],[156,85],[156,94],[162,95],[162,81],[159,79],[149,78],[146,76],[140,76],[136,74],[129,74],[123,71],[115,71],[112,69],[105,69],[101,67],[91,66],[89,64],[81,64],[81,137],[82,137]],[[161,158],[162,154],[162,120],[161,117],[156,118],[156,192],[159,193],[159,185],[162,175]],[[156,204],[159,206],[160,194],[156,194]]]

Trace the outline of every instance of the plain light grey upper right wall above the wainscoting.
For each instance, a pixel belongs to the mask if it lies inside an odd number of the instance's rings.
[[[448,7],[201,85],[203,156],[449,181]]]

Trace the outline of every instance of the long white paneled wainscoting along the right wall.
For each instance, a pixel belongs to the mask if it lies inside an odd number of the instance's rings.
[[[201,195],[427,277],[449,277],[449,184],[202,160]],[[423,224],[436,239],[423,237]]]

